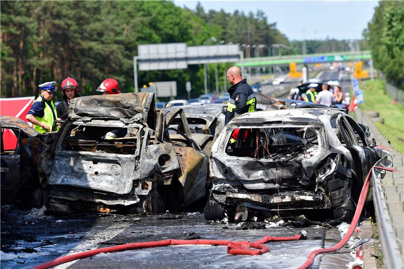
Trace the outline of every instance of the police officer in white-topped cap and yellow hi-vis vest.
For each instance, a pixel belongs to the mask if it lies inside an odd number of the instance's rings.
[[[39,133],[53,132],[58,128],[56,124],[58,115],[52,100],[56,92],[55,84],[55,81],[51,81],[38,85],[41,95],[36,98],[25,116]]]

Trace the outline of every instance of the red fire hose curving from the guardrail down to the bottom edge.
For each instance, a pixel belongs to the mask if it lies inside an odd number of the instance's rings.
[[[380,160],[379,160],[380,161]],[[376,163],[377,164],[377,163]],[[366,200],[366,196],[368,194],[368,188],[369,188],[369,182],[370,182],[370,175],[372,173],[372,169],[377,168],[377,169],[382,169],[382,170],[387,170],[387,171],[392,171],[394,169],[391,168],[387,168],[387,167],[378,167],[376,165],[374,165],[368,173],[368,176],[366,177],[365,183],[363,184],[362,187],[362,191],[361,191],[361,195],[359,196],[359,200],[358,200],[358,205],[357,205],[357,209],[355,211],[354,214],[354,218],[352,218],[352,222],[350,223],[349,229],[346,232],[345,236],[341,239],[341,241],[339,241],[338,244],[336,244],[333,247],[329,247],[329,248],[320,248],[320,249],[316,249],[314,251],[312,251],[309,254],[309,258],[306,260],[305,263],[303,263],[300,267],[298,267],[297,269],[306,269],[309,268],[314,261],[314,258],[318,255],[318,254],[322,254],[322,253],[333,253],[336,252],[338,250],[340,250],[345,244],[346,242],[348,242],[349,238],[352,236],[352,234],[355,231],[355,228],[357,226],[357,223],[359,221],[359,217],[361,217],[361,213],[362,213],[362,209],[363,206],[365,204],[365,200]]]

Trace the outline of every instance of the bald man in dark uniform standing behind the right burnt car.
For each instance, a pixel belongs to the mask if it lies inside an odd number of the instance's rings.
[[[225,124],[228,124],[234,117],[246,112],[256,111],[257,100],[247,80],[243,79],[240,68],[233,66],[227,70],[227,80],[230,94],[227,102]]]

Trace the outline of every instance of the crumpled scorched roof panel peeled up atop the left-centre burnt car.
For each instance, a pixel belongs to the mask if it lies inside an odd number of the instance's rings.
[[[91,95],[73,98],[69,106],[69,119],[90,118],[137,119],[154,129],[156,125],[154,93],[121,93]]]

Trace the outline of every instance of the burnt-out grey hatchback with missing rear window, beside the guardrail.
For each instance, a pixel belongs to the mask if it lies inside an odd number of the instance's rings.
[[[237,129],[232,142],[229,138]],[[376,162],[373,146],[355,120],[339,110],[243,114],[212,146],[213,187],[205,218],[221,220],[227,213],[229,219],[244,221],[256,213],[265,217],[305,212],[348,222]]]

